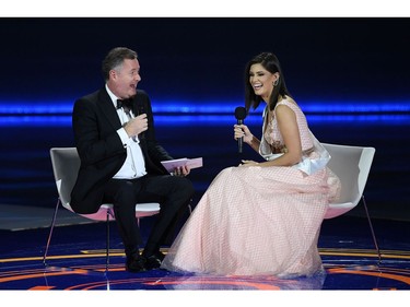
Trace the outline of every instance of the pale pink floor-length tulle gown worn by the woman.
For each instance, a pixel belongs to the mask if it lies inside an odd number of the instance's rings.
[[[304,114],[292,102],[278,103],[283,104],[296,115],[305,165],[320,160],[319,143]],[[283,140],[276,119],[266,122],[259,151],[269,160],[271,146],[283,146]],[[311,175],[301,170],[303,167],[223,169],[181,228],[162,268],[278,278],[321,271],[317,249],[320,225],[329,201],[339,194],[340,181],[326,165]]]

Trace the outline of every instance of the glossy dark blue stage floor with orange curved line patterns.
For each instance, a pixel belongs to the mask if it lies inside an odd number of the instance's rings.
[[[141,221],[143,236],[152,219]],[[319,251],[326,272],[294,280],[194,275],[163,270],[128,273],[115,222],[110,222],[107,271],[105,223],[55,227],[47,265],[44,265],[48,227],[1,229],[0,290],[410,290],[410,222],[375,219],[373,226],[382,252],[380,262],[367,220],[340,216],[325,220],[323,224]],[[163,251],[166,250],[164,247]]]

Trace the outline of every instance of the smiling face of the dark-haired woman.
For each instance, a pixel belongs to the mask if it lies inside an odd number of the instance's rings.
[[[279,73],[267,71],[260,63],[250,66],[249,83],[254,88],[255,95],[260,96],[265,102],[269,102],[269,97],[273,91],[273,83],[279,79]]]

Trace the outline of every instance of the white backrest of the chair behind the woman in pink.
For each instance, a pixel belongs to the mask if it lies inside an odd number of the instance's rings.
[[[325,216],[325,219],[331,219],[352,210],[360,202],[376,150],[328,143],[323,143],[323,145],[331,156],[329,168],[341,181],[340,199],[329,205]]]

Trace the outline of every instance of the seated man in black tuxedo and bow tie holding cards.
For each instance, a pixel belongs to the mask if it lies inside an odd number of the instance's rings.
[[[164,257],[161,245],[194,194],[192,184],[185,177],[190,169],[181,167],[169,174],[161,164],[172,157],[156,142],[149,96],[137,90],[141,81],[137,52],[114,48],[102,69],[105,86],[79,98],[73,107],[81,167],[70,204],[77,213],[86,214],[104,202],[113,203],[127,271],[155,269]],[[142,253],[134,212],[138,202],[161,204]]]

